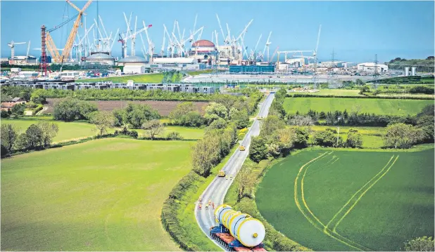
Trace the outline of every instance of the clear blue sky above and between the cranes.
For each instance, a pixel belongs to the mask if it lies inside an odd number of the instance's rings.
[[[86,2],[73,3],[82,8]],[[63,22],[64,15],[77,14],[65,5],[65,1],[1,1],[1,56],[11,55],[7,45],[11,40],[30,40],[30,55],[39,55],[32,48],[41,46],[41,25],[51,28]],[[86,11],[88,27],[96,17],[96,5],[94,1]],[[232,34],[241,32],[253,19],[245,36],[248,48],[255,47],[263,34],[258,46],[263,49],[272,31],[270,54],[277,46],[280,51],[315,49],[321,24],[320,60],[331,59],[333,49],[335,58],[350,62],[372,61],[375,53],[380,62],[434,55],[434,1],[99,1],[98,5],[108,33],[118,27],[127,29],[122,11],[152,24],[149,34],[156,51],[163,40],[163,24],[171,30],[178,20],[180,29],[184,27],[188,33],[196,13],[196,27],[204,26],[201,39],[211,40],[216,29],[222,44],[217,13],[224,32],[227,22]],[[63,48],[71,27],[65,25],[52,33],[58,48]],[[80,34],[84,34],[82,28]],[[120,47],[115,42],[114,55],[120,55]],[[137,55],[141,55],[140,47],[137,39]],[[15,55],[26,51],[27,45],[15,46]]]

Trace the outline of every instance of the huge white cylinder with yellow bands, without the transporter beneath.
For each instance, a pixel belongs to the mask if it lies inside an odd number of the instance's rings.
[[[229,233],[244,246],[257,246],[265,238],[265,226],[260,220],[246,213],[235,211],[231,206],[225,204],[217,206],[215,219],[227,227]]]

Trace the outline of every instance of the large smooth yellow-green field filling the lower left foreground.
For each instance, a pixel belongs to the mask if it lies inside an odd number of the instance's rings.
[[[101,139],[1,160],[2,251],[179,251],[163,201],[185,141]]]

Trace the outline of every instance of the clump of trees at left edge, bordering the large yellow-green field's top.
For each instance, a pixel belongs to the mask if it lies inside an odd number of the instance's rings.
[[[23,133],[13,124],[1,124],[1,156],[13,151],[42,150],[49,147],[58,131],[58,125],[49,121],[32,124]]]

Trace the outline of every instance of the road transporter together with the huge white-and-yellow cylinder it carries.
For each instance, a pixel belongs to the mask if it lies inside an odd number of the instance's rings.
[[[219,225],[210,227],[210,236],[229,251],[266,251],[266,231],[260,220],[223,204],[215,210],[215,222]]]

